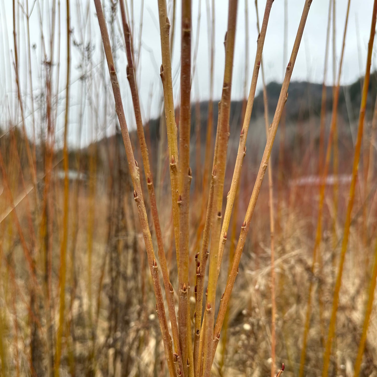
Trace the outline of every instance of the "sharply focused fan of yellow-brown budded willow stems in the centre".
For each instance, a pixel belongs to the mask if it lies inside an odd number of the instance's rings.
[[[144,138],[143,124],[141,122],[138,92],[136,88],[135,72],[132,63],[132,50],[130,43],[130,27],[127,25],[124,5],[121,1],[121,12],[123,21],[124,38],[126,41],[127,51],[127,78],[129,79],[133,106],[135,110],[136,124],[138,127],[138,136],[142,151],[144,172],[148,184],[148,192],[152,207],[153,223],[156,228],[158,239],[158,254],[161,263],[161,271],[166,291],[168,311],[172,328],[173,338],[170,337],[169,327],[164,308],[161,286],[158,279],[158,266],[153,250],[152,238],[147,220],[146,209],[144,205],[143,194],[141,192],[140,176],[138,163],[136,162],[131,146],[130,136],[127,128],[126,117],[123,109],[120,86],[115,70],[109,34],[107,32],[106,20],[103,15],[100,0],[94,0],[98,23],[101,30],[104,51],[107,64],[109,67],[110,80],[112,83],[115,109],[120,123],[121,133],[123,136],[124,146],[126,149],[127,160],[129,163],[130,173],[134,187],[134,197],[138,206],[139,220],[143,228],[144,242],[146,245],[148,262],[153,278],[153,288],[156,295],[156,310],[161,327],[162,339],[166,354],[169,374],[186,375],[186,376],[209,376],[211,366],[215,357],[216,348],[220,339],[221,329],[225,319],[231,291],[239,271],[239,262],[242,250],[245,245],[248,230],[250,228],[251,218],[253,216],[256,201],[261,190],[262,181],[268,166],[271,149],[276,135],[277,127],[280,122],[282,111],[288,95],[288,86],[292,75],[294,63],[302,38],[305,22],[311,5],[311,0],[305,2],[296,40],[292,49],[292,54],[287,65],[284,82],[276,107],[275,115],[271,126],[268,127],[267,117],[267,95],[264,89],[265,101],[265,122],[267,143],[265,151],[256,178],[250,203],[247,208],[245,220],[242,224],[241,234],[234,251],[233,263],[230,268],[225,292],[220,300],[220,307],[215,321],[216,305],[216,288],[221,269],[224,246],[227,240],[227,232],[230,224],[231,213],[236,198],[239,179],[241,176],[242,162],[246,153],[246,139],[250,125],[251,112],[256,92],[257,78],[259,68],[262,62],[262,51],[264,46],[265,35],[267,31],[268,19],[270,16],[273,0],[268,0],[265,6],[261,30],[257,40],[257,51],[253,67],[253,78],[250,85],[250,92],[245,109],[244,123],[241,129],[239,148],[236,163],[233,170],[231,187],[227,195],[227,204],[224,215],[222,215],[222,198],[224,191],[225,166],[229,139],[229,118],[231,102],[231,85],[233,75],[233,57],[234,57],[234,40],[236,34],[236,19],[238,10],[238,1],[230,1],[228,7],[228,26],[225,37],[225,69],[224,81],[222,86],[222,95],[219,102],[218,127],[216,131],[215,152],[213,156],[212,175],[210,188],[208,192],[207,214],[204,221],[202,236],[202,247],[200,252],[196,253],[196,285],[195,285],[195,333],[194,344],[192,344],[192,329],[189,308],[190,283],[189,283],[189,206],[190,206],[190,182],[192,179],[192,170],[190,169],[190,128],[191,128],[191,1],[182,1],[182,18],[181,18],[181,91],[180,91],[180,111],[179,111],[179,142],[177,138],[177,126],[175,120],[175,107],[173,102],[172,87],[172,67],[171,67],[171,48],[170,48],[170,22],[167,17],[166,1],[159,0],[159,26],[161,33],[161,80],[164,92],[164,107],[166,115],[167,140],[170,159],[170,183],[172,190],[172,207],[173,207],[173,224],[174,237],[176,245],[176,257],[178,266],[178,328],[174,309],[174,289],[169,281],[168,270],[166,267],[166,257],[162,244],[159,240],[159,220],[157,207],[155,203],[155,194],[153,190],[153,180],[149,168],[147,146]],[[259,25],[258,25],[259,28]],[[213,31],[212,31],[213,32]],[[213,37],[212,37],[213,38]],[[213,63],[211,63],[213,64]],[[211,67],[211,71],[212,71]],[[213,79],[211,79],[213,80]],[[211,83],[212,87],[213,83]],[[210,117],[209,117],[210,118]],[[208,127],[211,129],[211,127]],[[210,135],[210,132],[207,132]],[[208,141],[209,137],[207,138]],[[210,141],[208,142],[210,143]],[[178,155],[179,144],[179,155]],[[206,156],[205,166],[208,165],[208,155]],[[207,168],[208,170],[208,168]],[[269,169],[270,183],[270,210],[271,220],[273,220],[272,208],[272,173]],[[273,221],[271,221],[271,242],[273,247]],[[208,286],[206,299],[203,302],[204,293],[204,274],[209,257],[208,267]],[[271,262],[273,264],[273,248],[271,252]],[[272,268],[272,270],[274,270]],[[202,308],[204,304],[204,314]],[[275,311],[275,309],[274,309]],[[202,320],[203,317],[203,320]],[[173,345],[174,343],[174,353]],[[274,348],[274,345],[273,345]],[[273,351],[274,355],[274,351]],[[271,374],[274,366],[271,368]]]

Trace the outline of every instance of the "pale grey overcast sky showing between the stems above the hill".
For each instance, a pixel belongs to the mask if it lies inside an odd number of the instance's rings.
[[[36,1],[36,3],[35,3]],[[233,86],[232,86],[232,99],[240,99],[244,96],[244,79],[245,79],[245,1],[239,0],[238,2],[238,21],[236,29],[236,44],[234,56],[234,70],[233,70]],[[294,66],[292,80],[310,80],[315,82],[322,82],[323,80],[323,67],[324,67],[324,54],[326,43],[326,27],[328,18],[328,1],[329,0],[313,0],[309,12],[307,24],[303,34],[302,42],[300,45],[299,53],[297,56],[296,64]],[[17,96],[15,93],[14,85],[14,69],[11,66],[13,62],[13,12],[12,1],[0,1],[0,98],[2,110],[0,110],[0,123],[5,123],[9,116],[17,117]],[[95,81],[96,72],[100,66],[102,55],[102,44],[100,39],[100,31],[98,28],[97,18],[95,17],[94,4],[90,0],[72,0],[71,1],[71,17],[73,37],[75,40],[80,41],[80,23],[77,11],[77,3],[83,5],[84,12],[89,9],[88,22],[84,31],[84,39],[86,43],[90,41],[94,47],[92,72],[93,80]],[[26,0],[20,0],[21,5],[26,5]],[[130,1],[129,1],[130,3]],[[134,0],[134,46],[138,46],[139,36],[139,20],[141,15],[141,0]],[[207,36],[207,0],[201,0],[200,8],[200,35],[198,44],[198,59],[196,75],[193,79],[192,86],[192,100],[197,98],[204,100],[209,95],[209,54],[208,54],[208,36]],[[32,5],[34,4],[34,8]],[[106,0],[106,17],[109,21],[109,2]],[[288,59],[291,54],[294,38],[296,36],[297,27],[299,25],[300,17],[302,14],[304,0],[288,0]],[[38,6],[40,5],[40,6]],[[29,11],[32,8],[30,17],[31,25],[31,44],[35,44],[35,50],[32,52],[32,72],[33,72],[33,86],[35,94],[38,94],[43,88],[38,87],[40,83],[41,72],[41,33],[40,33],[40,7],[42,8],[41,14],[44,14],[43,29],[45,34],[49,34],[50,25],[46,17],[49,8],[52,5],[52,0],[29,0]],[[170,12],[170,22],[172,22],[172,1],[167,0],[168,9]],[[192,24],[193,24],[193,48],[195,48],[196,31],[198,28],[198,5],[199,0],[192,1]],[[340,49],[342,43],[342,34],[346,14],[346,0],[336,1],[336,62],[339,63]],[[87,8],[89,6],[89,8]],[[265,1],[259,0],[259,18],[261,20],[264,12]],[[371,24],[371,12],[373,7],[372,0],[351,0],[351,9],[349,14],[348,31],[346,35],[345,58],[342,73],[342,83],[351,83],[356,80],[360,75],[364,74],[366,63],[366,52],[368,46],[369,30]],[[21,9],[21,8],[20,8]],[[129,4],[129,10],[130,4]],[[50,8],[51,12],[51,8]],[[22,16],[22,9],[20,10]],[[118,77],[122,88],[122,95],[124,98],[127,122],[129,127],[135,126],[132,104],[130,101],[130,93],[128,82],[126,80],[126,55],[121,45],[120,34],[120,17],[118,10],[118,19],[115,22],[115,40],[117,41],[116,48],[116,66],[118,70]],[[179,98],[179,55],[180,55],[180,2],[177,0],[177,15],[176,15],[176,33],[175,43],[173,48],[172,67],[173,75],[176,78],[174,81],[174,92],[176,102]],[[224,36],[227,28],[227,13],[228,2],[226,0],[215,0],[215,87],[214,97],[218,99],[221,96],[223,72],[224,72]],[[20,16],[20,17],[21,17]],[[83,16],[84,17],[84,16]],[[58,51],[58,43],[55,43],[55,63],[60,56],[60,88],[61,98],[64,97],[65,85],[65,72],[66,72],[66,8],[65,1],[61,1],[61,41],[60,51]],[[27,63],[27,48],[25,38],[25,17],[19,26],[19,59],[20,59],[20,78],[24,83],[22,85],[23,95],[27,98],[28,80],[26,76],[26,63]],[[247,92],[251,81],[251,71],[253,69],[254,57],[256,52],[256,11],[254,0],[248,0],[248,33],[249,33],[249,58],[248,58],[248,78],[247,78]],[[57,36],[56,36],[57,37]],[[283,38],[284,38],[284,0],[275,0],[272,6],[270,20],[267,28],[267,35],[265,39],[263,59],[265,64],[265,75],[267,82],[269,81],[282,81],[284,67],[288,61],[283,61]],[[332,38],[332,35],[330,35]],[[48,49],[48,47],[47,47]],[[60,53],[60,55],[59,55]],[[77,123],[78,117],[78,104],[80,103],[80,90],[78,78],[82,74],[82,68],[79,67],[80,54],[77,48],[72,48],[72,74],[71,74],[71,108],[70,108],[70,121],[74,125]],[[329,54],[329,62],[332,62],[332,53]],[[143,9],[143,28],[141,34],[141,55],[140,64],[138,66],[138,85],[139,95],[141,97],[141,104],[143,107],[144,119],[147,116],[155,117],[158,115],[161,106],[161,80],[159,77],[159,66],[161,64],[161,44],[159,41],[159,26],[158,26],[158,8],[157,0],[144,0]],[[374,61],[372,67],[375,67]],[[23,69],[22,69],[23,68]],[[87,68],[87,67],[86,67]],[[56,75],[57,69],[54,69]],[[331,84],[333,80],[332,66],[330,63],[327,75],[327,83]],[[93,84],[95,86],[95,83]],[[261,80],[258,81],[257,91],[261,89]],[[38,92],[39,90],[39,92]],[[152,93],[152,96],[151,96]],[[28,100],[26,99],[26,110],[28,113]],[[178,102],[177,102],[178,103]],[[10,110],[5,110],[9,107]],[[58,110],[58,123],[61,124],[64,118],[64,103],[60,105]],[[13,110],[14,109],[14,110]],[[29,109],[30,110],[30,109]],[[101,110],[100,110],[101,111]],[[86,115],[88,113],[86,112]],[[85,138],[88,136],[88,129],[90,120],[84,121]],[[70,133],[71,141],[75,140],[75,136]],[[84,139],[85,139],[84,138]]]

